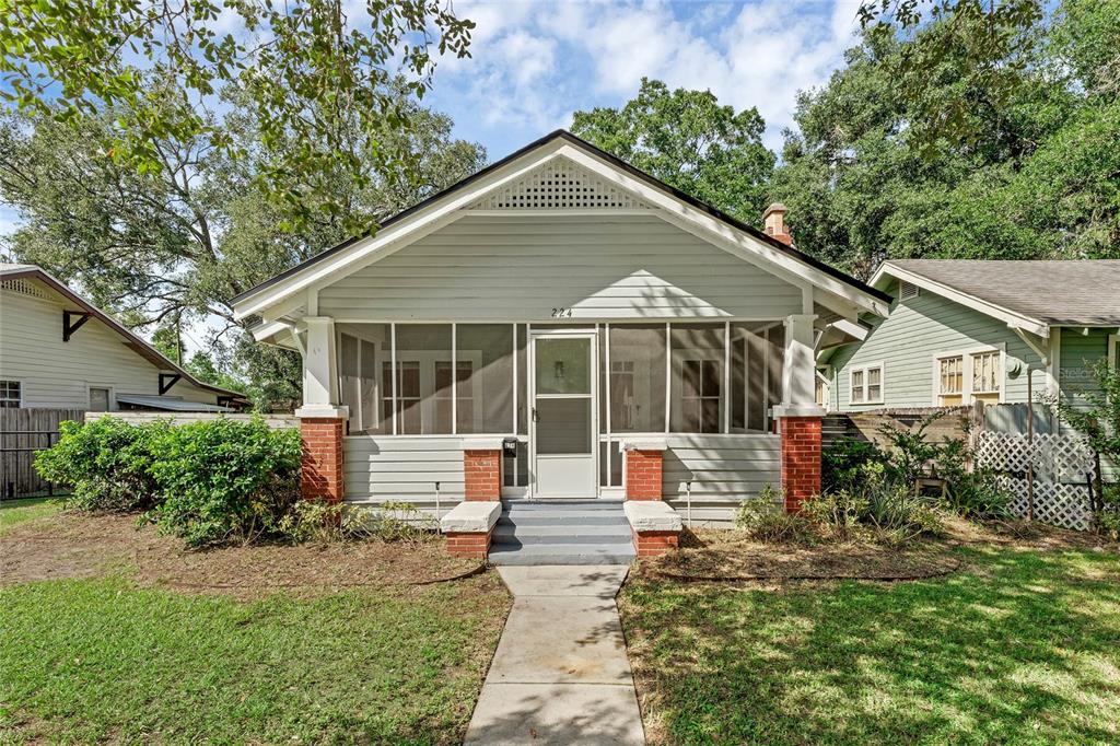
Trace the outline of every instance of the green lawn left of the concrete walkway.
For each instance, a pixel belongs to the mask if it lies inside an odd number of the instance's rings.
[[[479,632],[485,594],[472,602],[457,588],[244,603],[123,578],[12,586],[0,590],[0,730],[83,743],[456,743],[496,643]]]

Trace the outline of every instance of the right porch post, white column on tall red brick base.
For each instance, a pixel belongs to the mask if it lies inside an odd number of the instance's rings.
[[[821,419],[816,404],[813,358],[813,314],[785,317],[785,364],[782,366],[782,405],[774,408],[782,438],[782,491],[785,510],[821,492]]]

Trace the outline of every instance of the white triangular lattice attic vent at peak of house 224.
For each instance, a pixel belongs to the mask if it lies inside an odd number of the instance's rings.
[[[472,209],[647,209],[650,206],[566,159],[483,197]]]

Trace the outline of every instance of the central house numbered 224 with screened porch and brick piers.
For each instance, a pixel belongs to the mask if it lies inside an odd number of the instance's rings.
[[[233,306],[302,353],[307,494],[728,520],[819,488],[814,337],[889,302],[783,212],[758,231],[560,131]]]

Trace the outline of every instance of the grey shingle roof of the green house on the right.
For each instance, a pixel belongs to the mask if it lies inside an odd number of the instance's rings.
[[[890,267],[1051,326],[1120,325],[1120,260],[889,260]]]

